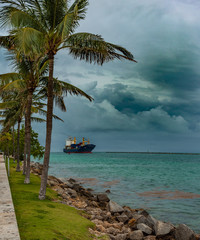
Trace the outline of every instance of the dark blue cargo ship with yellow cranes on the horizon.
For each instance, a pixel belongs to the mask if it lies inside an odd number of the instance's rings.
[[[65,153],[92,153],[92,150],[96,147],[94,144],[90,144],[89,140],[82,139],[82,142],[76,143],[76,138],[69,137],[66,140]]]

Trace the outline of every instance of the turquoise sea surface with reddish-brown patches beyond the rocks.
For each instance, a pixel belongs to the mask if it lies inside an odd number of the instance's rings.
[[[49,174],[78,179],[110,199],[200,232],[200,155],[51,153]]]

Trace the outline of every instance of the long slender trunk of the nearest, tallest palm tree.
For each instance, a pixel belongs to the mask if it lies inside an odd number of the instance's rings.
[[[43,161],[43,169],[41,176],[41,186],[39,199],[43,200],[46,196],[46,186],[49,169],[49,157],[51,150],[51,133],[52,133],[52,115],[53,115],[53,68],[54,68],[54,55],[49,54],[49,81],[48,81],[48,102],[47,102],[47,123],[46,123],[46,144]]]

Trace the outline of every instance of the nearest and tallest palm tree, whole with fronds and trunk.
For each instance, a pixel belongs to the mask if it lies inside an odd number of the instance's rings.
[[[75,33],[85,18],[88,0],[0,0],[3,3],[0,21],[10,24],[19,48],[25,55],[44,52],[49,58],[46,144],[39,199],[45,199],[53,114],[54,57],[61,49],[69,49],[74,58],[102,65],[117,59],[134,61],[125,48],[105,42],[91,33]]]

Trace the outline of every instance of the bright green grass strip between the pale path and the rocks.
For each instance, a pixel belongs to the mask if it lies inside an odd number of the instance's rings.
[[[38,199],[40,178],[31,174],[31,183],[24,184],[22,173],[15,171],[11,161],[10,187],[21,240],[91,240],[88,232],[94,224],[80,211],[52,202],[57,194],[47,189],[47,198]]]

